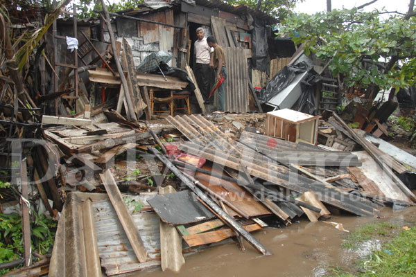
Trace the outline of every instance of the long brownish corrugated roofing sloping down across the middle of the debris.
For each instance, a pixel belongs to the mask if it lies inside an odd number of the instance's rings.
[[[365,198],[351,199],[349,193],[332,186],[325,186],[319,181],[298,175],[277,162],[265,159],[256,151],[233,141],[215,125],[200,115],[169,116],[166,118],[187,138],[192,141],[180,146],[180,150],[214,161],[223,166],[241,170],[247,167],[250,175],[269,181],[271,184],[305,193],[313,190],[318,193],[320,200],[356,215],[373,215],[378,211],[372,202]],[[277,152],[277,157],[279,153]]]

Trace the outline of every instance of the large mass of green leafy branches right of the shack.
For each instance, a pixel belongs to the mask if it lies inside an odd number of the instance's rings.
[[[306,55],[313,52],[319,59],[330,61],[329,69],[344,75],[349,86],[375,84],[381,89],[398,90],[415,84],[414,17],[391,15],[381,19],[376,11],[333,10],[291,15],[282,31],[295,44],[304,43]],[[394,66],[388,64],[385,69],[380,60],[392,60]]]

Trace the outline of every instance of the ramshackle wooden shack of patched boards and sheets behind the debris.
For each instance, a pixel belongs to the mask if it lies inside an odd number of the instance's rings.
[[[55,65],[58,75],[53,76],[53,72],[49,72],[55,85],[49,91],[44,89],[45,91],[41,94],[73,89],[60,98],[55,98],[55,103],[50,103],[49,107],[51,111],[55,109],[55,115],[70,115],[73,111],[78,114],[84,110],[85,104],[94,107],[123,93],[120,91],[120,80],[112,79],[117,74],[114,61],[112,61],[114,51],[109,43],[110,33],[105,25],[104,15],[102,12],[98,14],[99,17],[78,21],[74,21],[71,17],[58,19],[53,26],[53,31],[49,33],[49,38],[54,42],[50,49],[55,53],[55,60],[52,64]],[[267,27],[277,22],[274,17],[259,10],[242,5],[231,6],[219,0],[144,1],[137,9],[110,12],[109,15],[112,20],[114,39],[117,41],[116,52],[120,53],[121,48],[125,48],[121,45],[125,39],[131,48],[130,66],[135,67],[139,66],[150,53],[165,51],[172,56],[167,63],[168,66],[187,69],[189,65],[193,68],[196,62],[193,49],[193,42],[197,39],[196,28],[202,27],[206,37],[214,35],[218,44],[225,48],[229,71],[226,111],[248,112],[250,102],[254,103],[251,109],[259,109],[259,105],[256,108],[252,88],[265,83],[270,71],[268,64],[270,59],[275,57],[275,54],[270,55],[268,51],[268,37],[272,35],[272,32],[271,28]],[[67,43],[64,40],[66,37],[78,39],[78,50],[73,52],[67,50]],[[291,51],[293,52],[294,49]],[[102,67],[105,67],[105,70]],[[70,73],[74,68],[79,68],[79,70]],[[89,73],[83,73],[87,70]],[[123,70],[127,71],[124,66]],[[272,70],[276,71],[276,69]],[[78,72],[79,77],[77,77]],[[157,91],[168,88],[185,89],[183,86],[171,86],[171,84],[166,86],[162,82],[163,79],[156,77],[155,82],[144,82],[145,79],[153,77],[147,75],[141,77],[138,80],[139,87],[147,84],[147,89],[152,89],[148,91],[150,102],[147,103],[146,99],[143,99],[146,105],[150,104],[152,107],[153,102],[160,102],[159,98],[166,100],[168,97],[164,94],[157,96]],[[177,81],[173,77],[170,79],[172,82]],[[252,86],[249,86],[250,79]],[[62,80],[69,81],[69,84],[65,86]],[[211,80],[214,80],[214,75]],[[90,81],[95,84],[90,84]],[[159,85],[156,86],[156,83]],[[135,93],[134,96],[140,98],[140,94],[143,96],[144,93],[139,93],[139,96]],[[198,98],[198,95],[196,96]],[[192,98],[195,98],[193,91],[190,97],[192,102]],[[61,105],[61,101],[70,103]],[[200,99],[198,99],[198,105],[199,110],[197,108],[195,111],[205,112]],[[121,109],[117,110],[121,111]],[[187,110],[189,112],[189,107],[185,109]],[[140,112],[138,114],[141,115]]]

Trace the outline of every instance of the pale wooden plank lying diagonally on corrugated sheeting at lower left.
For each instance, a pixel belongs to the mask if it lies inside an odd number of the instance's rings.
[[[131,247],[133,251],[135,251],[137,259],[139,262],[146,262],[147,251],[141,240],[139,230],[137,229],[135,221],[128,211],[127,206],[124,204],[119,187],[117,186],[114,177],[112,177],[110,170],[108,169],[103,174],[100,174],[100,178],[101,181],[103,181],[107,195],[116,211],[117,217],[119,217]]]

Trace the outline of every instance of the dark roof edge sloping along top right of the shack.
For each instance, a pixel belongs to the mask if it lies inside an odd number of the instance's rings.
[[[275,17],[271,17],[270,15],[261,12],[260,10],[254,10],[244,5],[232,6],[221,0],[196,0],[195,2],[200,6],[216,8],[225,12],[232,12],[236,15],[245,15],[245,13],[248,12],[250,15],[252,15],[252,17],[256,17],[257,19],[265,21],[266,24],[277,23],[277,19],[275,19]]]

